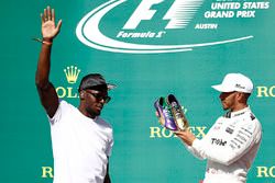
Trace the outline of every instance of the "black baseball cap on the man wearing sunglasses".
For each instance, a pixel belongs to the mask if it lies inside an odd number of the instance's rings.
[[[100,73],[89,73],[81,79],[78,91],[92,89],[92,90],[112,90],[117,85],[107,83]]]

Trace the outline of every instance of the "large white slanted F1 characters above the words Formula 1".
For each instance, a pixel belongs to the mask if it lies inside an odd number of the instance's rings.
[[[151,20],[157,10],[152,10],[152,5],[164,0],[142,0],[123,30],[135,30],[141,21]],[[184,28],[194,18],[194,14],[204,0],[175,0],[163,20],[169,20],[165,28]]]

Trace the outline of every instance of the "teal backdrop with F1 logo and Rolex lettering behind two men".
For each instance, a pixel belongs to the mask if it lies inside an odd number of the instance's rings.
[[[118,87],[102,113],[113,127],[113,183],[199,183],[206,161],[163,128],[154,102],[174,94],[202,138],[224,114],[218,84],[250,77],[250,107],[263,127],[249,183],[275,182],[275,9],[271,0],[6,1],[1,5],[2,183],[52,183],[50,123],[35,88],[43,9],[63,20],[53,43],[51,81],[78,106],[80,79],[99,72]]]

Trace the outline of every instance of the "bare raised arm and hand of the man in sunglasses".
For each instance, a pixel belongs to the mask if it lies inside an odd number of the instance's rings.
[[[40,53],[37,69],[35,73],[35,84],[40,94],[40,100],[50,117],[53,117],[58,107],[58,96],[54,85],[50,82],[51,50],[54,37],[58,34],[62,21],[55,26],[54,9],[47,7],[41,14],[43,43]]]

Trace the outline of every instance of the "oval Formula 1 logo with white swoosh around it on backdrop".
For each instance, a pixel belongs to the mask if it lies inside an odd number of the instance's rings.
[[[232,19],[207,16],[207,12],[212,11],[201,10],[204,0],[139,2],[110,0],[91,10],[77,25],[78,39],[89,47],[106,52],[152,54],[189,52],[253,38],[253,35],[240,33],[237,26],[231,33],[226,31],[232,28],[228,24]],[[223,2],[217,3],[221,3],[219,8],[222,8]],[[218,8],[208,5],[208,9]]]

